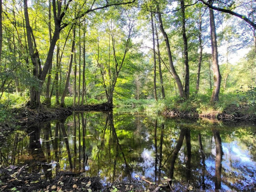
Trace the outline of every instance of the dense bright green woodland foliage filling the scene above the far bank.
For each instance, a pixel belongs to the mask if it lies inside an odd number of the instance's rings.
[[[107,4],[106,4],[107,2]],[[160,9],[167,32],[174,67],[185,83],[184,44],[182,40],[182,13],[180,1],[29,1],[28,16],[32,34],[32,52],[28,43],[28,26],[25,22],[23,2],[2,2],[2,42],[0,55],[0,110],[28,104],[32,92],[46,104],[58,105],[68,85],[66,106],[109,102],[116,106],[132,106],[136,110],[162,112],[167,108],[217,110],[222,112],[231,105],[247,105],[255,112],[256,86],[256,35],[255,29],[244,21],[254,20],[255,3],[225,1],[214,6],[230,9],[244,15],[241,18],[227,13],[216,14],[220,73],[222,75],[220,101],[209,104],[214,75],[209,53],[209,11],[201,2],[185,1],[186,36],[188,39],[188,64],[190,97],[178,96],[178,87],[168,64],[164,38],[159,28],[156,9]],[[56,5],[56,3],[58,5]],[[56,29],[56,6],[63,14],[59,38],[54,45],[52,65],[46,78],[40,75],[47,64],[50,46]],[[95,10],[94,10],[95,9]],[[150,12],[153,13],[155,41],[152,49]],[[199,19],[200,18],[200,19]],[[26,20],[27,21],[27,20]],[[50,31],[50,32],[49,32]],[[72,32],[73,31],[73,32]],[[157,34],[157,36],[156,36]],[[202,64],[200,84],[196,91],[198,58],[201,38]],[[72,49],[74,41],[74,51]],[[157,46],[156,46],[157,47]],[[156,52],[156,96],[154,102],[154,59]],[[240,54],[239,60],[236,54]],[[242,55],[241,55],[242,54]],[[39,55],[39,56],[38,56]],[[32,62],[38,56],[38,66]],[[73,59],[71,60],[70,58]],[[69,70],[69,66],[71,66]],[[160,81],[160,68],[162,81]],[[38,73],[34,73],[38,68]],[[66,80],[68,82],[66,82]],[[166,99],[162,100],[161,86]],[[65,93],[65,92],[64,92]],[[38,103],[37,103],[38,104]],[[2,112],[4,113],[4,112]],[[3,116],[1,117],[3,118]]]

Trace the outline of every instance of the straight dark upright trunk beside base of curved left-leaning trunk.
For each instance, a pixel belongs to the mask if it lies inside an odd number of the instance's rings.
[[[182,38],[184,44],[184,65],[185,65],[185,97],[189,98],[189,66],[188,66],[188,38],[186,36],[186,21],[185,21],[185,4],[184,0],[180,0],[182,13]]]

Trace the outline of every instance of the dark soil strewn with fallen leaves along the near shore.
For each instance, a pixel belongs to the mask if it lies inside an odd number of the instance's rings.
[[[144,192],[140,185],[120,182],[113,185],[100,182],[100,177],[85,177],[72,172],[58,172],[54,178],[28,171],[28,167],[0,168],[0,191],[8,192]],[[20,171],[21,170],[21,171]],[[155,188],[155,187],[153,187]]]

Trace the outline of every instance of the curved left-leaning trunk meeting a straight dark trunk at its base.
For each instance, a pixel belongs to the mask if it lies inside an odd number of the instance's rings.
[[[164,26],[163,26],[163,22],[162,22],[162,16],[161,16],[158,4],[156,5],[156,10],[158,12],[158,20],[159,20],[159,24],[160,24],[160,30],[162,32],[162,35],[164,36],[164,41],[165,41],[165,44],[166,44],[166,50],[167,50],[168,60],[169,60],[169,65],[170,65],[170,71],[172,72],[172,76],[174,77],[174,79],[177,83],[180,97],[184,97],[185,94],[184,94],[182,82],[181,82],[180,77],[178,76],[178,74],[177,74],[177,72],[174,68],[174,64],[173,64],[173,61],[172,61],[172,52],[171,52],[171,48],[170,48],[169,38],[168,38],[167,33],[164,30]]]

